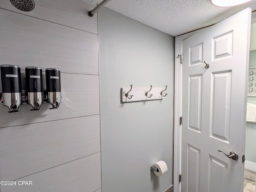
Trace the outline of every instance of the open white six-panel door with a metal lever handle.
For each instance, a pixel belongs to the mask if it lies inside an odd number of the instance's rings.
[[[181,192],[242,192],[250,17],[248,8],[183,42]]]

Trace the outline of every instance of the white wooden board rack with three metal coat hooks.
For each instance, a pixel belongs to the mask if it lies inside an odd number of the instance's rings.
[[[121,102],[162,100],[167,95],[163,94],[166,88],[154,88],[152,85],[150,88],[134,88],[132,85],[130,88],[121,88]]]

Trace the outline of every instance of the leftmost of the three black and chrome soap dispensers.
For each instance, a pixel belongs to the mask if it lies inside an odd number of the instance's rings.
[[[22,90],[20,67],[15,65],[1,65],[2,98],[4,106],[9,108],[9,112],[19,112],[22,105]]]

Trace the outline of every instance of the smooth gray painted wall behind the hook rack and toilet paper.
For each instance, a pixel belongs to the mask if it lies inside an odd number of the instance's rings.
[[[98,12],[102,192],[172,185],[174,37],[107,8]],[[120,88],[168,86],[163,100],[120,103]],[[150,166],[164,160],[157,177]]]

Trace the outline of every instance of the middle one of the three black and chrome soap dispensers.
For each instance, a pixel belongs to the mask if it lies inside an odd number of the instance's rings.
[[[27,103],[33,107],[30,111],[40,110],[43,103],[42,68],[26,67],[25,72]]]

